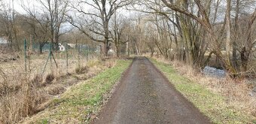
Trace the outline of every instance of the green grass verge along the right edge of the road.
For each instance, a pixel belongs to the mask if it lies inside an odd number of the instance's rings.
[[[151,59],[151,62],[163,72],[185,98],[208,116],[213,123],[254,123],[255,120],[252,120],[252,116],[233,109],[225,102],[223,96],[209,91],[200,83],[181,76],[171,65],[157,62],[155,59]]]

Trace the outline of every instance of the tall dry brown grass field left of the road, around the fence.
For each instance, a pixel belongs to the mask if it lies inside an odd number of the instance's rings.
[[[63,57],[65,55],[54,54],[58,68],[53,61],[49,62],[44,74],[42,69],[47,54],[30,56],[27,60],[26,73],[21,53],[20,59],[0,63],[0,123],[17,123],[26,116],[44,110],[47,101],[58,97],[69,86],[98,74],[108,68],[109,63],[111,66],[115,62],[114,60],[99,62],[96,56],[90,56],[88,58],[90,61],[87,62],[85,57],[81,57],[79,65],[87,68],[79,68],[86,71],[84,74],[76,74],[78,59],[75,54],[69,58],[68,70],[66,59]]]

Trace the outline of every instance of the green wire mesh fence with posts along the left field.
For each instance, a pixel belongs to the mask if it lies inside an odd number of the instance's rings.
[[[46,77],[47,74],[56,76],[75,73],[76,68],[87,65],[91,60],[97,60],[100,56],[100,47],[96,44],[59,44],[59,50],[53,50],[50,43],[44,44],[42,53],[40,45],[29,44],[24,41],[23,51],[13,53],[10,57],[18,56],[19,59],[8,59],[2,62],[0,68],[5,72],[8,79],[20,77],[19,75],[28,75],[33,78],[36,75]],[[0,80],[3,81],[3,80]],[[18,84],[18,80],[12,81]]]

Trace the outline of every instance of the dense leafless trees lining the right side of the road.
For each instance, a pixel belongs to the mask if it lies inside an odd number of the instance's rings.
[[[194,68],[203,68],[215,56],[233,77],[254,73],[254,0],[145,0],[138,5],[144,8],[133,9],[154,18],[147,24],[153,27],[146,36],[151,52],[156,47],[166,59]],[[249,61],[254,62],[250,67]]]

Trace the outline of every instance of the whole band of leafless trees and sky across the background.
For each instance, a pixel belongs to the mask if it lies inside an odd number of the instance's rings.
[[[233,77],[254,73],[255,0],[20,2],[26,14],[12,11],[4,1],[0,9],[0,32],[16,50],[23,38],[33,38],[41,47],[51,41],[55,50],[61,41],[80,38],[100,44],[103,56],[111,49],[116,56],[151,53],[194,68],[215,57]]]

